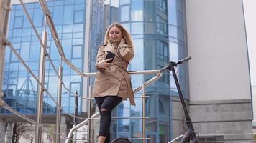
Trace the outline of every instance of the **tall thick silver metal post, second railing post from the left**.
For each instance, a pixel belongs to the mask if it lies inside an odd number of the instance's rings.
[[[47,32],[46,32],[46,18],[45,18],[45,28],[42,33],[42,41],[44,42],[44,46],[41,45],[41,51],[40,51],[40,82],[42,85],[45,84],[45,59],[46,59],[46,45],[47,45]],[[39,84],[38,88],[38,95],[37,95],[37,122],[39,124],[42,124],[42,109],[43,109],[43,98],[44,98],[44,89]],[[35,134],[35,142],[41,143],[42,142],[42,127],[37,125],[36,126],[36,134]]]

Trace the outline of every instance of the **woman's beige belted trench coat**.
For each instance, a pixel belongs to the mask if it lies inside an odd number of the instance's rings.
[[[131,77],[127,72],[129,61],[134,56],[133,47],[125,44],[124,39],[117,47],[108,42],[106,46],[99,46],[97,63],[106,58],[107,51],[115,54],[113,66],[96,72],[93,97],[119,96],[125,100],[129,98],[130,104],[135,105]]]

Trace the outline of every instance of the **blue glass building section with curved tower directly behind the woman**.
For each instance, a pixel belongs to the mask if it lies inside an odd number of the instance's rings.
[[[98,46],[103,44],[109,24],[121,23],[132,34],[134,59],[129,71],[160,69],[169,61],[187,56],[186,14],[183,0],[99,0],[91,1],[90,70],[95,71]],[[183,96],[188,99],[188,64],[179,66],[178,79]],[[132,76],[134,89],[155,75]],[[93,84],[93,79],[91,79]],[[138,92],[135,97],[140,97]],[[146,137],[147,142],[169,142],[173,138],[173,98],[178,97],[172,75],[167,72],[157,82],[146,88]],[[113,112],[113,117],[141,117],[142,100],[136,98],[137,106],[124,101]],[[93,111],[96,111],[94,105]],[[93,123],[99,126],[99,121]],[[94,137],[98,131],[94,131]],[[111,138],[142,137],[142,119],[113,119]],[[142,142],[133,140],[133,142]]]

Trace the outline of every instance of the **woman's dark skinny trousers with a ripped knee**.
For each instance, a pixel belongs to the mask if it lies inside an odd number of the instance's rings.
[[[95,97],[95,101],[101,115],[99,122],[99,136],[106,137],[105,143],[109,143],[111,112],[112,109],[114,109],[120,102],[122,102],[122,98],[117,96]],[[106,111],[102,111],[102,109]]]

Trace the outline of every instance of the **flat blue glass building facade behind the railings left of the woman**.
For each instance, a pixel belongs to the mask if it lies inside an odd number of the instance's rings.
[[[44,27],[44,16],[38,2],[26,3],[27,11],[41,35]],[[84,0],[58,0],[47,1],[55,29],[65,51],[66,58],[83,71],[83,50],[85,39],[85,13],[86,1]],[[60,66],[60,56],[55,42],[52,39],[50,29],[47,27],[47,52],[50,54],[55,67]],[[40,66],[40,42],[35,31],[24,14],[21,4],[12,5],[9,18],[8,39],[22,56],[32,72],[39,76]],[[50,64],[49,59],[45,67],[45,87],[52,97],[57,100],[58,77]],[[6,48],[4,67],[4,100],[22,114],[36,114],[37,112],[37,82],[24,68],[9,48]],[[63,63],[63,82],[72,92],[81,93],[82,78]],[[62,92],[63,113],[74,113],[75,97],[63,88]],[[55,114],[56,104],[49,95],[44,95],[44,114]],[[10,112],[1,109],[1,113]],[[81,114],[81,99],[78,102],[78,114]]]

